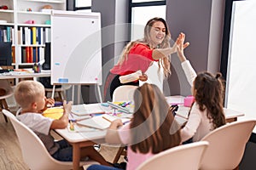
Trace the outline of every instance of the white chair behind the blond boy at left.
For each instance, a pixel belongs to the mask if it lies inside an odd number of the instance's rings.
[[[72,161],[57,161],[44,147],[43,142],[38,136],[32,132],[29,127],[26,127],[22,122],[9,111],[3,110],[3,114],[9,117],[15,127],[15,132],[20,141],[20,149],[23,160],[30,169],[45,170],[45,169],[72,169]]]

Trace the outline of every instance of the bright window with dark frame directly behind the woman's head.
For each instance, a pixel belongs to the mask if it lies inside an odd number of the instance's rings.
[[[131,40],[143,37],[147,21],[154,17],[166,19],[166,1],[131,0]]]

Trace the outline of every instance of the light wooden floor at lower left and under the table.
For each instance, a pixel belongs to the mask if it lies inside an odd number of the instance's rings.
[[[102,145],[100,153],[107,161],[112,162],[117,148]],[[119,161],[123,161],[120,158]],[[22,160],[20,144],[11,122],[5,122],[3,113],[0,112],[0,169],[4,170],[28,170]]]

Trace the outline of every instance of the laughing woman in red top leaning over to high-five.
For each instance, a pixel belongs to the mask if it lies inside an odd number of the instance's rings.
[[[171,33],[166,20],[162,18],[148,20],[144,28],[143,39],[129,42],[125,46],[118,63],[110,70],[104,87],[105,100],[109,94],[112,99],[114,89],[121,85],[138,86],[138,80],[125,84],[121,83],[119,81],[120,76],[141,70],[143,75],[139,77],[139,80],[147,81],[148,77],[144,73],[152,65],[153,61],[158,62],[159,71],[160,67],[162,67],[165,78],[168,77],[171,74],[169,55],[177,52],[177,44],[175,43],[171,48],[170,39]],[[188,45],[189,43],[185,43],[183,48]]]

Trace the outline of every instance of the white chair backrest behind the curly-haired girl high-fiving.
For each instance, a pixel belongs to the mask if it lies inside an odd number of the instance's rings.
[[[208,133],[201,139],[209,142],[209,147],[200,169],[235,169],[255,124],[256,120],[231,122]]]

